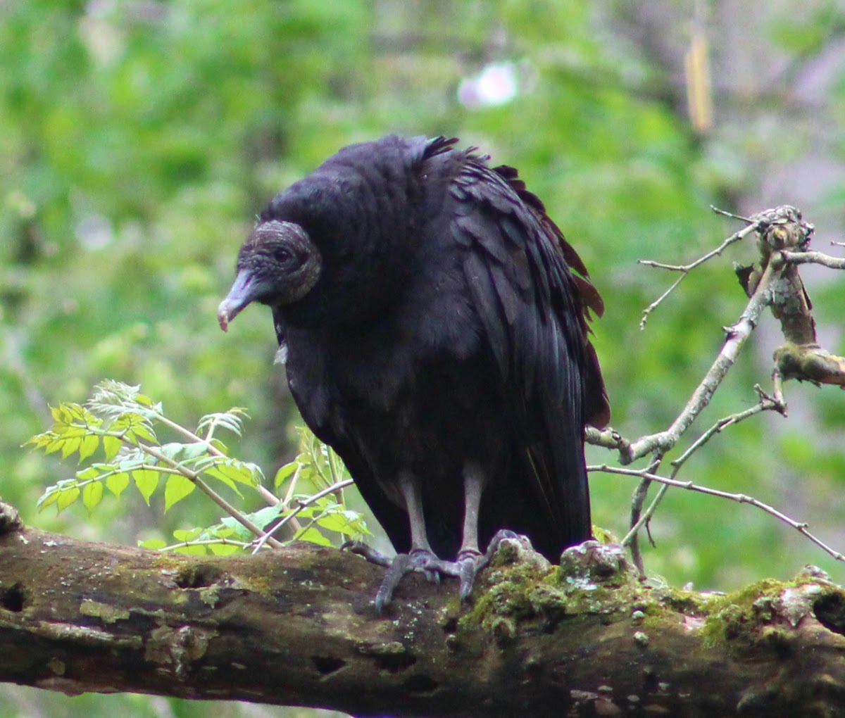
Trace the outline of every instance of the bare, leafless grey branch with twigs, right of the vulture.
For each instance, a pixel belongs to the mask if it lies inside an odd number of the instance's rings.
[[[722,254],[733,242],[738,242],[752,232],[756,232],[758,234],[757,247],[760,251],[760,265],[759,267],[741,268],[744,270],[742,272],[738,270],[740,283],[748,292],[750,300],[739,320],[732,326],[725,328],[726,340],[722,345],[722,350],[712,363],[706,376],[690,396],[684,410],[665,431],[635,440],[628,440],[612,429],[607,429],[604,432],[588,429],[585,433],[586,441],[589,443],[617,450],[619,452],[619,463],[622,465],[628,465],[647,454],[651,454],[650,464],[645,469],[640,470],[608,468],[607,466],[589,467],[589,469],[590,471],[610,471],[641,478],[632,500],[631,529],[624,538],[624,544],[630,546],[634,563],[641,573],[642,558],[638,535],[644,527],[647,530],[651,516],[670,486],[689,488],[722,498],[731,498],[741,503],[752,503],[804,533],[811,541],[837,560],[843,560],[845,557],[842,557],[842,554],[833,551],[815,536],[812,536],[806,530],[806,525],[788,519],[784,514],[771,509],[770,506],[755,498],[746,497],[743,494],[731,494],[707,489],[706,487],[697,487],[690,481],[679,481],[676,478],[685,462],[717,433],[722,432],[724,428],[744,421],[762,411],[778,411],[782,416],[787,416],[782,391],[782,382],[785,379],[801,378],[815,383],[845,385],[845,359],[831,355],[830,352],[824,351],[815,343],[815,322],[810,313],[810,300],[795,267],[797,264],[815,263],[831,269],[845,269],[845,258],[835,258],[823,253],[804,251],[814,228],[812,225],[805,223],[799,209],[792,206],[783,205],[774,209],[766,209],[751,218],[733,215],[715,207],[711,209],[720,215],[742,220],[747,226],[728,237],[719,247],[690,264],[673,265],[641,260],[640,264],[680,272],[681,276],[655,302],[646,307],[640,326],[641,328],[645,326],[648,315],[679,286],[681,280],[692,269]],[[831,244],[836,244],[836,242],[831,242]],[[775,317],[781,321],[782,330],[787,339],[787,344],[776,351],[776,366],[772,373],[772,395],[769,396],[759,386],[755,386],[759,397],[756,405],[720,419],[696,438],[683,454],[672,461],[672,471],[669,476],[659,476],[657,470],[664,455],[677,445],[679,439],[695,422],[701,411],[709,405],[713,394],[721,385],[730,368],[733,367],[745,340],[755,329],[760,320],[760,315],[766,307],[771,307]],[[644,510],[643,506],[651,481],[659,481],[662,486],[660,491],[657,492],[657,496]]]

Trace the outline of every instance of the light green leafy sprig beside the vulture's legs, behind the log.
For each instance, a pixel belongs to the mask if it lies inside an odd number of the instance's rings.
[[[240,407],[203,416],[192,432],[167,418],[161,402],[141,394],[139,386],[106,380],[95,387],[85,405],[66,402],[50,411],[52,427],[25,445],[46,454],[61,453],[63,459],[78,454],[79,464],[98,453],[103,460],[91,461],[73,478],[47,487],[39,509],[55,505],[63,511],[81,499],[93,512],[106,491],[120,499],[134,483],[148,505],[163,487],[167,511],[199,488],[228,515],[215,525],[174,531],[177,543],[170,547],[160,539],[141,543],[190,553],[245,550],[256,538],[263,546],[282,525],[292,528],[289,540],[321,545],[332,543],[331,534],[345,540],[368,533],[360,514],[347,509],[343,501],[343,487],[352,480],[340,458],[305,429],[301,453],[276,473],[275,488],[286,491],[284,498],[278,498],[262,486],[264,474],[258,465],[232,457],[215,436],[219,429],[242,436],[247,414]],[[159,434],[167,430],[183,440],[162,442]],[[249,487],[269,505],[244,514],[216,491],[215,485],[220,484],[242,499],[241,489]],[[304,493],[303,486],[313,487],[316,493]],[[264,533],[270,525],[273,528]]]

